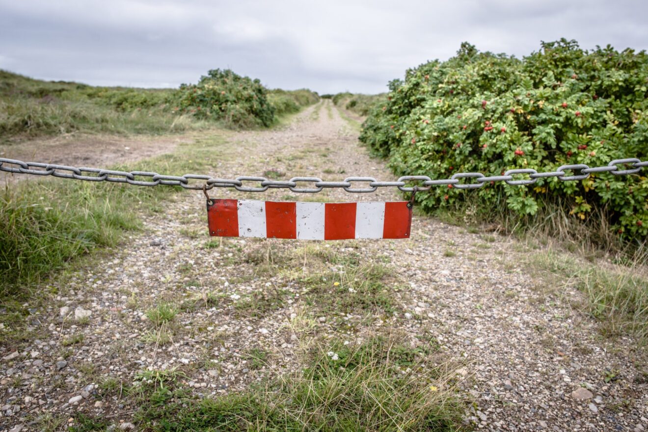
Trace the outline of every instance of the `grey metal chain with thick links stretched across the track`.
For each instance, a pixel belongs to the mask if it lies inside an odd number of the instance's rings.
[[[618,165],[629,164],[631,169],[619,170]],[[8,165],[16,165],[8,166]],[[373,177],[347,177],[344,181],[323,181],[319,177],[292,177],[288,181],[268,180],[266,177],[240,176],[235,179],[218,179],[202,174],[185,174],[184,176],[165,176],[157,172],[146,171],[113,171],[100,168],[87,168],[67,165],[56,165],[39,162],[23,162],[16,159],[5,159],[0,157],[0,171],[32,174],[33,176],[54,176],[64,179],[75,179],[85,181],[109,181],[112,183],[128,183],[135,186],[180,186],[185,189],[210,190],[214,187],[233,187],[240,192],[266,192],[269,188],[288,188],[291,192],[300,194],[316,194],[324,188],[343,188],[346,192],[369,193],[375,192],[379,187],[397,187],[402,192],[415,192],[429,190],[432,186],[449,185],[457,189],[478,189],[485,183],[503,181],[507,185],[533,185],[539,178],[558,177],[561,181],[583,180],[592,173],[611,172],[615,176],[626,176],[636,174],[643,167],[648,166],[648,161],[640,161],[636,158],[615,159],[607,166],[596,166],[590,168],[585,164],[562,165],[556,171],[537,172],[531,168],[508,170],[503,176],[487,177],[480,172],[460,172],[449,179],[432,180],[428,176],[402,176],[398,181],[378,181]],[[40,169],[34,169],[40,168]],[[580,170],[581,174],[576,174]],[[572,171],[573,175],[568,176],[566,171]],[[94,175],[87,175],[94,174]],[[514,180],[516,174],[528,174],[529,179]],[[150,177],[150,181],[137,180],[135,177]],[[474,179],[476,183],[459,183],[460,179]],[[190,183],[190,180],[202,180],[204,183]],[[259,186],[246,186],[244,182],[256,182]],[[313,187],[297,187],[297,183],[312,183]],[[353,183],[367,183],[365,187],[354,187]],[[413,187],[406,187],[408,183],[419,183]]]

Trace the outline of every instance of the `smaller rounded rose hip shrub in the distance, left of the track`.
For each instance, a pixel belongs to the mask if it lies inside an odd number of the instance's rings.
[[[258,79],[229,69],[213,69],[198,84],[181,85],[174,109],[199,119],[218,120],[234,129],[268,127],[275,114],[266,87]]]

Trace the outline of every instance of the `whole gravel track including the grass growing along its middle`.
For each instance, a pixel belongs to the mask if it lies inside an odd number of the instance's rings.
[[[329,100],[283,128],[191,145],[213,148],[222,177],[391,178]],[[531,276],[539,261],[527,258],[548,247],[425,216],[411,240],[221,241],[206,236],[204,205],[202,193],[171,196],[144,233],[53,277],[58,293],[27,313],[23,340],[0,346],[5,428],[648,428],[645,351],[604,336],[570,284]],[[183,406],[192,395],[216,402]]]

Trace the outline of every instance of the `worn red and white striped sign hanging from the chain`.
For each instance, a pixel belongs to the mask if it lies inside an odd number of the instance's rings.
[[[407,201],[292,203],[250,199],[207,200],[209,234],[220,237],[410,238]]]

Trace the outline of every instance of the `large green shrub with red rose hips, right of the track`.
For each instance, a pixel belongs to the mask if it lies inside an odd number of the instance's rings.
[[[408,69],[405,80],[390,82],[360,139],[388,157],[397,175],[432,179],[600,166],[628,157],[645,161],[647,89],[643,51],[618,52],[609,45],[584,51],[563,39],[543,42],[540,51],[518,60],[462,43],[447,62],[425,63]],[[526,187],[488,183],[467,192],[433,187],[417,199],[431,211],[477,194],[481,206],[495,209],[505,200],[518,216],[559,203],[577,220],[605,214],[614,233],[637,238],[648,234],[647,174],[643,168],[631,176],[601,173],[570,182],[552,177]]]

